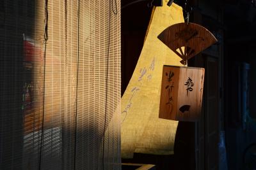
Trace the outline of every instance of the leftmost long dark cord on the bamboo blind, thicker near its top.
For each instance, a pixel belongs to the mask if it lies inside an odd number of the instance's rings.
[[[41,141],[40,141],[40,156],[39,156],[39,164],[38,169],[41,169],[42,164],[42,147],[44,141],[44,115],[45,115],[45,59],[46,59],[46,45],[48,40],[48,0],[45,0],[44,4],[44,94],[43,94],[43,118],[42,118],[42,130],[41,130]]]

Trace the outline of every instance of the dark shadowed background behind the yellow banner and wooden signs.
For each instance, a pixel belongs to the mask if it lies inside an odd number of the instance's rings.
[[[148,2],[122,9],[122,94],[143,46],[152,11]],[[128,3],[131,1],[124,0],[122,6]],[[175,3],[184,6],[184,1]],[[202,119],[198,123],[179,122],[174,155],[136,153],[134,159],[123,162],[157,164],[159,169],[221,169],[220,134],[225,132],[228,169],[246,169],[244,153],[248,146],[256,143],[255,1],[193,0],[188,3],[193,6],[190,21],[204,25],[218,39],[216,45],[189,60],[189,66],[205,67],[207,73]],[[243,63],[250,65],[248,100],[242,99],[238,90],[244,83],[237,73]],[[215,105],[211,104],[211,94],[215,96]],[[241,111],[243,102],[248,103],[246,123]]]

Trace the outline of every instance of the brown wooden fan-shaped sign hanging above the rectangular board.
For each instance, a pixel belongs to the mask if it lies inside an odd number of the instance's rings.
[[[210,31],[194,23],[179,23],[166,28],[157,37],[179,55],[182,64],[217,42]]]

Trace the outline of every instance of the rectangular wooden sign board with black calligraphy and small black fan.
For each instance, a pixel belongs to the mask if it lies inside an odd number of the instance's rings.
[[[204,68],[163,66],[159,118],[199,120],[203,89]]]

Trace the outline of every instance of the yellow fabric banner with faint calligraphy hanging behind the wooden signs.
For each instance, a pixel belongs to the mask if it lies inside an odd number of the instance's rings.
[[[132,158],[134,152],[173,154],[178,122],[158,118],[161,77],[164,64],[181,66],[181,59],[157,36],[184,18],[180,6],[167,2],[152,11],[140,59],[122,97],[122,158]]]

